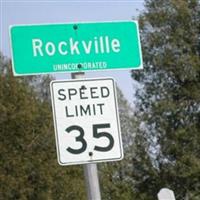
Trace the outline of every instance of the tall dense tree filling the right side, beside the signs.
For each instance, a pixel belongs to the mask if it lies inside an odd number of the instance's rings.
[[[132,73],[140,117],[133,177],[138,199],[161,187],[200,198],[200,5],[146,0],[140,16],[144,70]]]

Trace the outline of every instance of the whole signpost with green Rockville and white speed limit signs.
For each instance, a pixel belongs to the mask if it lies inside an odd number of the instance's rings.
[[[14,76],[142,69],[137,21],[10,27]],[[121,160],[123,148],[111,78],[51,82],[60,165],[84,164],[89,200],[100,200],[96,162]]]

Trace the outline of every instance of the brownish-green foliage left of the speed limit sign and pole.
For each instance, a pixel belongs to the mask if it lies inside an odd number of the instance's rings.
[[[0,199],[86,199],[82,167],[56,161],[48,100],[0,61]]]

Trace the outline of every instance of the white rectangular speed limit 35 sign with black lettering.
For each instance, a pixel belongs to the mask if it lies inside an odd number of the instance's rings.
[[[113,79],[52,81],[51,98],[60,165],[123,158]]]

